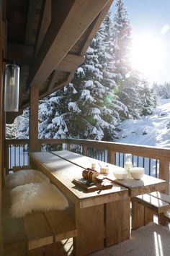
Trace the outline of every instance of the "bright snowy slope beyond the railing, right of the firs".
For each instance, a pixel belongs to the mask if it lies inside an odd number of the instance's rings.
[[[120,129],[116,142],[170,148],[170,98],[160,100],[151,116],[122,121]]]

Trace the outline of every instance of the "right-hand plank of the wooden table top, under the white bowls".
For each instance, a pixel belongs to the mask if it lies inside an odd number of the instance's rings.
[[[104,166],[108,165],[109,174],[106,175],[107,178],[112,180],[112,182],[116,184],[120,184],[122,187],[128,188],[130,197],[135,197],[136,195],[142,195],[142,194],[153,192],[153,191],[161,191],[166,187],[166,181],[162,179],[157,179],[153,176],[148,176],[148,175],[144,175],[143,178],[140,180],[135,180],[135,179],[118,180],[118,179],[115,179],[113,171],[122,170],[122,168],[119,166],[114,166],[109,163],[104,163],[96,159],[88,158],[84,155],[79,155],[67,150],[53,151],[53,153],[62,158],[66,158],[68,161],[71,161],[72,163],[76,163],[79,166],[82,166],[84,168],[91,167],[91,162],[97,163],[97,168],[95,168],[97,171],[99,171],[99,168],[100,168],[98,163]]]

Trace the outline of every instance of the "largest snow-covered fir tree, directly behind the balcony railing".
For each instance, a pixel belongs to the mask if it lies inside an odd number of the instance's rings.
[[[70,85],[55,93],[53,104],[51,98],[46,103],[45,116],[48,114],[50,118],[40,125],[42,137],[94,140],[117,137],[120,114],[127,116],[128,109],[115,95],[112,48],[112,22],[107,14]]]

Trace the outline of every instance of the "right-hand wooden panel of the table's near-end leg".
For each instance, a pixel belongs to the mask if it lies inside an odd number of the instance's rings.
[[[106,246],[130,238],[130,197],[106,205]]]

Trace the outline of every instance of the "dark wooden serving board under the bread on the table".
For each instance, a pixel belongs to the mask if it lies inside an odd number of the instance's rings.
[[[79,187],[82,187],[84,190],[86,190],[86,192],[93,192],[101,189],[111,189],[113,185],[112,182],[107,179],[104,179],[101,183],[94,183],[90,182],[88,179],[74,178],[73,183],[78,185]]]

